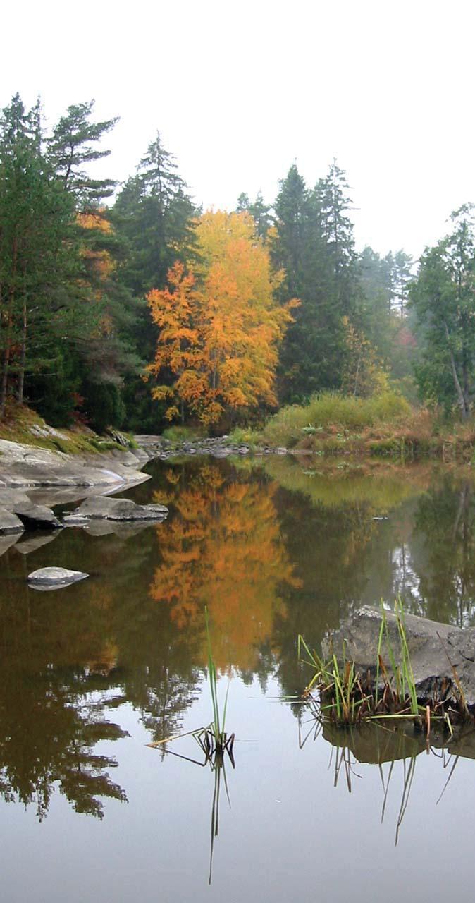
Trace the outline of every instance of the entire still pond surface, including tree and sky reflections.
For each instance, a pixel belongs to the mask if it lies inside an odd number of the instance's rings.
[[[471,900],[475,742],[315,736],[283,699],[308,676],[297,634],[317,646],[361,603],[400,593],[416,614],[475,623],[470,475],[328,476],[288,459],[149,470],[128,495],[168,504],[163,524],[24,535],[0,558],[2,899]],[[51,564],[90,577],[29,589]],[[164,749],[200,764],[147,746],[211,719],[205,605],[222,697],[231,679],[231,806],[192,737]]]

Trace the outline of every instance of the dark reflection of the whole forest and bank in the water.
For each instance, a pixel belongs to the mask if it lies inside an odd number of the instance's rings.
[[[151,470],[130,495],[169,504],[164,524],[140,535],[71,528],[50,545],[9,537],[0,558],[0,793],[41,818],[55,785],[90,815],[125,799],[109,774],[116,760],[96,749],[128,742],[122,703],[151,740],[181,730],[206,665],[205,605],[221,671],[257,677],[263,691],[272,676],[283,694],[301,688],[297,634],[316,646],[362,602],[400,591],[417,614],[475,621],[466,474],[329,477],[280,458]],[[26,576],[48,564],[89,580],[34,593]]]

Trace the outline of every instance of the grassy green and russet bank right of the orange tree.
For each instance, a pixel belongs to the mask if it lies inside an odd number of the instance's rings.
[[[395,392],[370,398],[325,392],[306,405],[281,408],[260,431],[236,430],[231,439],[321,455],[470,461],[475,422],[449,424]]]

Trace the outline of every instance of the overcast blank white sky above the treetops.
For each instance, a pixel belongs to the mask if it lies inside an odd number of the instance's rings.
[[[359,247],[417,256],[475,200],[470,0],[57,0],[2,13],[0,105],[41,94],[51,124],[96,98],[120,116],[106,173],[124,180],[160,129],[197,202],[273,200],[297,162],[333,156]]]

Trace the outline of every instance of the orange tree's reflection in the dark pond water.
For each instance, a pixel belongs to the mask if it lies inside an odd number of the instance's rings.
[[[257,665],[275,616],[286,617],[279,587],[299,585],[279,535],[276,489],[275,483],[230,483],[207,465],[174,498],[175,517],[160,535],[162,561],[151,596],[169,604],[179,628],[203,633],[203,661],[207,605],[222,669]]]

